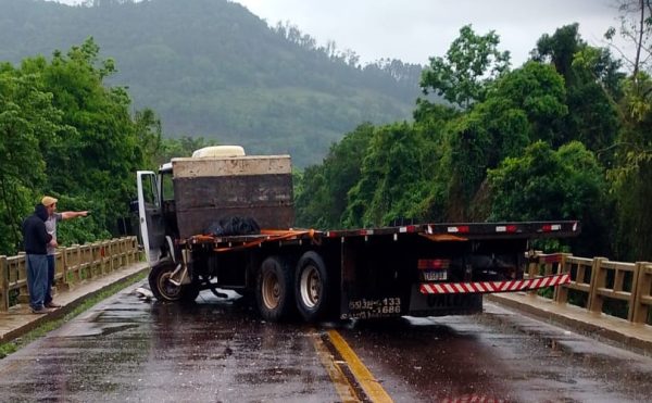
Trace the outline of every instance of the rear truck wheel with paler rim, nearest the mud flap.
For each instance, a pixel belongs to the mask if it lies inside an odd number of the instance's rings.
[[[305,252],[297,264],[297,307],[308,322],[322,319],[328,310],[330,287],[326,264],[318,253]]]

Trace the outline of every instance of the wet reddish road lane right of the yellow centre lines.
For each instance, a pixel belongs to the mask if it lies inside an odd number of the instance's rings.
[[[397,402],[650,402],[652,360],[492,304],[341,330]]]

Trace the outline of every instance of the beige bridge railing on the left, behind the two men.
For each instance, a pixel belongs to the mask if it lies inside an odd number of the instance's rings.
[[[54,281],[58,288],[70,289],[75,284],[92,280],[120,269],[140,259],[136,237],[61,248],[55,255]],[[13,303],[29,301],[25,253],[0,256],[0,312]]]

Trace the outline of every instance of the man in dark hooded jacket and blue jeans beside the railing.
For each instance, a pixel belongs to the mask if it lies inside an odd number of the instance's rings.
[[[23,222],[23,241],[27,262],[27,289],[29,306],[35,314],[46,314],[46,289],[48,286],[48,250],[52,236],[46,230],[48,210],[37,204],[34,214]]]

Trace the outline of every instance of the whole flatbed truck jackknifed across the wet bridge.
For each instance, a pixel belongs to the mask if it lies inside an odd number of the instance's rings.
[[[530,241],[579,234],[575,221],[294,227],[289,155],[237,146],[137,172],[141,242],[159,301],[233,290],[265,320],[467,315],[482,295],[555,287],[524,277]]]

